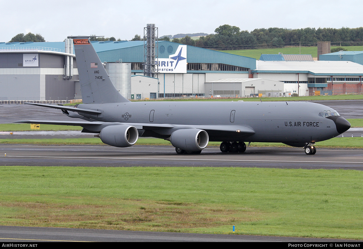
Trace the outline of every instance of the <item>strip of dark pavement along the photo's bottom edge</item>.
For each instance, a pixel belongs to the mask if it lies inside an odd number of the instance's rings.
[[[6,242],[305,242],[341,243],[358,242],[328,238],[294,238],[252,236],[237,234],[196,234],[170,232],[142,232],[102,229],[40,228],[22,226],[0,226],[0,241]],[[4,246],[3,246],[4,247]],[[19,246],[20,247],[20,246]],[[25,247],[25,246],[24,246]],[[37,246],[39,247],[39,246]]]

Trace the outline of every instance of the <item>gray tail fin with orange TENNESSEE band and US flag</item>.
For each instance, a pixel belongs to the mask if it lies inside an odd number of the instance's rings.
[[[113,85],[88,36],[73,38],[82,101],[88,103],[129,102]]]

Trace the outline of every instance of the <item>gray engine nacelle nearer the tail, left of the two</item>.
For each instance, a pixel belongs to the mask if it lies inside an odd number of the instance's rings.
[[[103,143],[111,146],[129,147],[136,143],[139,132],[131,125],[110,125],[101,130],[99,138]]]

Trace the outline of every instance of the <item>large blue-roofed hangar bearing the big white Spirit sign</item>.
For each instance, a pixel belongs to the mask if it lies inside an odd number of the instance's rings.
[[[144,74],[143,41],[94,42],[101,61],[131,64],[132,75]],[[169,41],[159,41],[158,85],[150,89],[158,97],[204,96],[204,83],[223,78],[249,78],[256,60]],[[152,85],[151,85],[152,86]],[[132,94],[144,93],[144,87],[132,85]],[[145,94],[143,94],[145,95]]]

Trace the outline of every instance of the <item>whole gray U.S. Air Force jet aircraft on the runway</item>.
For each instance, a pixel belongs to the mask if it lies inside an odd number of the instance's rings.
[[[245,142],[280,142],[315,154],[315,142],[334,138],[350,123],[330,107],[309,102],[130,102],[114,87],[88,36],[73,38],[83,103],[60,109],[85,121],[16,123],[83,127],[103,143],[129,147],[139,136],[166,139],[178,154],[199,154],[209,141],[222,152],[244,152]]]

